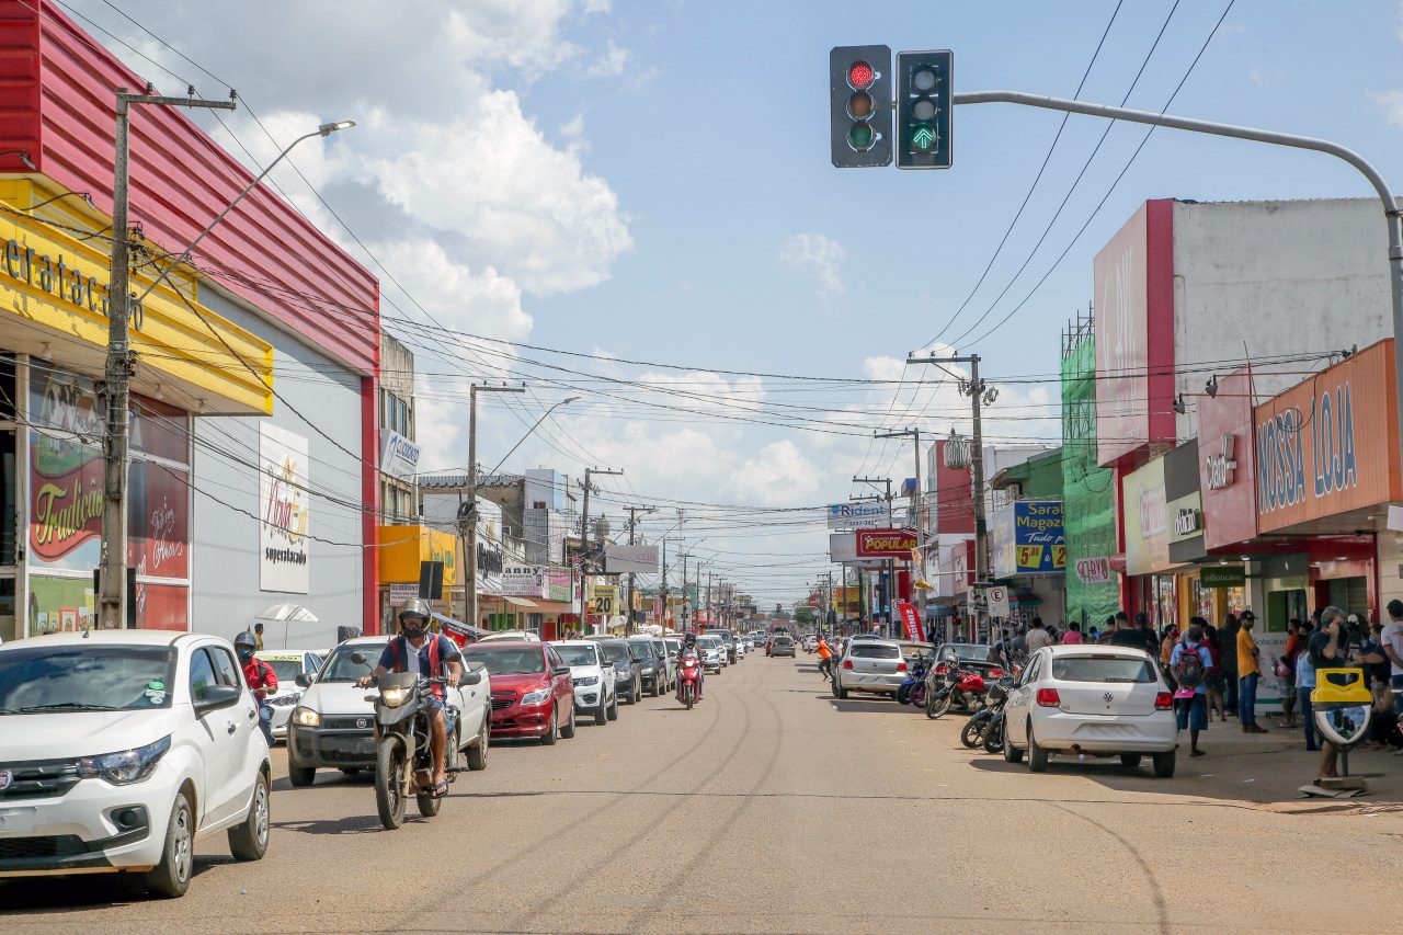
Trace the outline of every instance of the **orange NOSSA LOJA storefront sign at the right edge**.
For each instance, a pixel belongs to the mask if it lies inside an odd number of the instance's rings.
[[[1257,407],[1263,532],[1399,500],[1392,341]]]

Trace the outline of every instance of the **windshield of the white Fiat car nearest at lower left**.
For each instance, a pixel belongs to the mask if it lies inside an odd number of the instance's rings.
[[[170,708],[168,646],[29,646],[0,653],[0,715]]]

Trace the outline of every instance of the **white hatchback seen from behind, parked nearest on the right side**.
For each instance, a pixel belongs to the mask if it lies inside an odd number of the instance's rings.
[[[1179,724],[1159,665],[1124,646],[1045,646],[1028,660],[1005,703],[1003,757],[1042,772],[1049,754],[1120,755],[1135,768],[1143,754],[1155,775],[1174,775]]]

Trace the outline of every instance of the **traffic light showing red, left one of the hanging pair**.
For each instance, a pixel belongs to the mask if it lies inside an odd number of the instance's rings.
[[[828,53],[833,166],[891,166],[891,49],[840,45]]]

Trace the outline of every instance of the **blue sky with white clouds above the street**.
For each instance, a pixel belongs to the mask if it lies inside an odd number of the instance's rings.
[[[243,111],[199,119],[250,166],[358,121],[272,178],[380,277],[425,466],[466,462],[474,379],[530,387],[485,397],[484,468],[578,393],[504,470],[622,469],[595,501],[616,529],[654,507],[657,539],[682,507],[673,550],[762,602],[832,567],[815,507],[911,475],[911,441],[874,431],[968,431],[909,351],[978,352],[986,432],[1056,444],[1059,334],[1143,199],[1369,194],[1313,153],[1156,131],[1129,161],[1142,126],[1059,135],[1062,115],[1002,104],[957,108],[947,171],[838,170],[832,46],[953,49],[957,91],[1070,97],[1085,74],[1083,100],[1157,111],[1183,81],[1172,112],[1333,139],[1403,184],[1396,0],[65,6],[164,91],[236,87]]]

